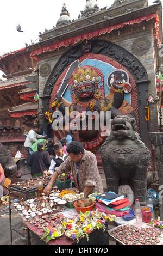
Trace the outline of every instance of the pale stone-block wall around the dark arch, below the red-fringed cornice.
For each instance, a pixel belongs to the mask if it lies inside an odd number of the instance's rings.
[[[138,54],[135,54],[132,50],[133,43],[135,40],[141,40],[142,38],[145,38],[149,44],[149,50],[146,53],[141,54],[138,52]],[[131,31],[130,27],[127,27],[126,29],[120,29],[120,32],[114,31],[110,34],[105,34],[99,38],[100,40],[108,40],[111,41],[121,47],[123,47],[126,51],[133,54],[137,59],[140,60],[142,65],[147,70],[148,78],[151,81],[148,85],[148,95],[151,94],[153,97],[156,96],[156,81],[155,81],[155,58],[154,58],[154,37],[153,37],[153,29],[152,24],[145,24],[145,26],[136,25],[133,28],[133,31]],[[76,45],[74,45],[75,47]],[[53,70],[54,66],[57,64],[58,60],[61,56],[63,56],[64,52],[67,52],[70,50],[72,46],[66,47],[66,48],[60,48],[59,50],[55,50],[54,52],[49,52],[43,54],[39,58],[39,69],[41,69],[41,66],[45,63],[48,63],[50,65],[51,71]],[[43,90],[45,88],[46,82],[48,80],[48,76],[42,76],[39,72],[39,95],[40,97],[43,95]],[[157,110],[157,101],[154,101],[154,103],[150,106],[150,120],[149,120],[149,131],[157,131],[158,130],[158,110]],[[148,104],[148,102],[147,102]],[[146,106],[144,106],[146,107]],[[39,101],[39,111],[40,116],[43,113],[43,105],[42,100]],[[42,115],[43,118],[43,115]],[[41,119],[42,119],[41,118]],[[40,120],[41,121],[41,120]]]

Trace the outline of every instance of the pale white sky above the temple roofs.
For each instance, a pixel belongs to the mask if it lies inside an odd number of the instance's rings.
[[[154,0],[148,0],[148,5]],[[110,7],[114,0],[97,0],[99,8]],[[0,15],[0,56],[19,50],[33,42],[39,42],[39,32],[52,29],[60,17],[63,4],[66,4],[71,20],[76,20],[84,10],[86,0],[5,0],[1,3]],[[17,32],[20,24],[23,32]],[[1,77],[1,74],[0,74]]]

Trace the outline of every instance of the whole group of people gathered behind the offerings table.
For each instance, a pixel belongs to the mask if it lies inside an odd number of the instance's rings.
[[[101,176],[97,168],[95,154],[84,149],[82,143],[74,140],[76,131],[70,130],[65,138],[53,143],[51,138],[38,135],[39,127],[34,125],[29,131],[24,147],[27,152],[27,168],[30,168],[32,178],[44,174],[51,179],[44,189],[48,195],[58,176],[71,174],[74,186],[88,194],[103,193]]]

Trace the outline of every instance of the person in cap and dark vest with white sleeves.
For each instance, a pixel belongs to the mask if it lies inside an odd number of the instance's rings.
[[[64,153],[63,146],[60,142],[54,144],[55,156],[52,157],[51,166],[48,169],[48,172],[45,174],[52,175],[56,167],[60,166],[67,159],[67,155]]]

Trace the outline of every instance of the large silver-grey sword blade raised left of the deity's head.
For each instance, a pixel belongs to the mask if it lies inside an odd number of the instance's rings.
[[[79,63],[78,59],[75,60],[73,63],[71,63],[70,67],[67,70],[67,73],[66,73],[64,79],[61,81],[60,87],[59,87],[57,93],[55,94],[55,96],[61,98],[64,95],[65,90],[67,89],[67,86],[68,86],[68,81],[70,80],[70,77],[71,77],[73,71],[75,69],[79,68],[79,65],[80,65],[80,63]]]

